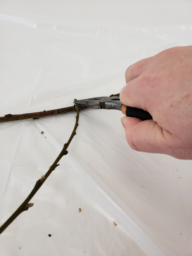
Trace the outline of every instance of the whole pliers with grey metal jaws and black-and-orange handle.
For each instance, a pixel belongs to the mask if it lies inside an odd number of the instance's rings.
[[[136,117],[141,120],[152,119],[152,116],[147,111],[144,111],[140,108],[132,108],[126,105],[123,105],[119,100],[119,96],[110,96],[110,97],[96,97],[90,99],[81,99],[74,101],[73,103],[79,104],[87,108],[96,108],[96,109],[116,109],[122,111],[126,116]]]

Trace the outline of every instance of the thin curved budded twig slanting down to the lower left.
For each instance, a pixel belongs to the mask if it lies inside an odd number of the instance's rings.
[[[0,234],[9,226],[9,224],[12,223],[12,221],[15,220],[15,218],[17,218],[17,216],[21,213],[24,212],[26,210],[29,209],[29,207],[32,207],[33,204],[29,203],[29,201],[32,199],[32,197],[36,194],[36,192],[41,188],[41,186],[43,185],[43,183],[45,182],[45,180],[47,180],[47,178],[49,177],[49,175],[52,173],[52,171],[55,170],[55,168],[59,165],[58,161],[61,159],[61,157],[63,157],[64,155],[66,155],[68,153],[67,148],[70,145],[70,142],[72,141],[73,137],[76,135],[76,129],[78,127],[78,121],[79,121],[79,112],[80,112],[80,107],[79,105],[77,105],[77,116],[76,116],[76,124],[74,126],[73,132],[68,140],[67,143],[64,144],[63,149],[61,150],[61,153],[58,155],[57,159],[55,160],[55,162],[52,164],[52,166],[49,168],[49,170],[47,171],[47,173],[45,175],[43,175],[41,177],[41,179],[39,179],[36,183],[34,188],[32,189],[31,193],[29,194],[29,196],[26,198],[26,200],[20,205],[20,207],[12,214],[12,216],[0,227]]]

